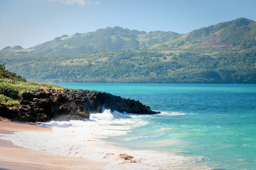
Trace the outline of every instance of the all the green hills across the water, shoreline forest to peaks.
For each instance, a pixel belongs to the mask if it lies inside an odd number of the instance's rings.
[[[121,27],[0,51],[0,63],[36,82],[256,83],[256,22],[240,18],[186,35]]]

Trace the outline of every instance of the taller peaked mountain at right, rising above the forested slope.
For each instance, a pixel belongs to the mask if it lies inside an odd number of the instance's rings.
[[[256,22],[238,18],[230,22],[218,23],[196,29],[175,40],[155,44],[151,49],[232,49],[241,50],[255,47]]]

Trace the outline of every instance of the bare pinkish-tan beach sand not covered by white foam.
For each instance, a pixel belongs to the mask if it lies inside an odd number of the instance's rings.
[[[15,131],[52,131],[35,125],[0,121],[0,134]],[[106,163],[35,151],[0,139],[0,169],[102,169]]]

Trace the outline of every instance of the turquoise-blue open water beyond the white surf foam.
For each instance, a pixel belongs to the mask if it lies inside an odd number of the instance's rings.
[[[197,156],[191,161],[214,168],[256,169],[256,84],[57,85],[109,92],[162,112],[138,116],[147,124],[105,141]]]

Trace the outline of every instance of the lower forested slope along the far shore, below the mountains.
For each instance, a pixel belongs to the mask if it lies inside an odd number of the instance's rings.
[[[99,51],[60,56],[5,56],[12,71],[36,82],[256,83],[255,50]]]

